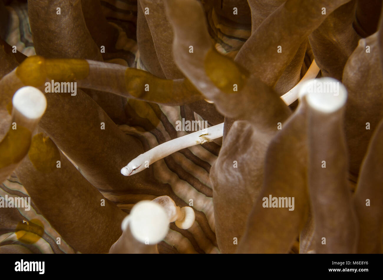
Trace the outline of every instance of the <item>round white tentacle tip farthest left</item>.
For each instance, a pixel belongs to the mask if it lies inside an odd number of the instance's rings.
[[[35,87],[19,88],[12,98],[12,105],[17,111],[28,119],[39,119],[47,108],[44,93]]]

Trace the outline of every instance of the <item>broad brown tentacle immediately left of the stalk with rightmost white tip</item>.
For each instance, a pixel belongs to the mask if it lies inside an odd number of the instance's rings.
[[[238,253],[287,253],[306,223],[307,193],[306,105],[302,101],[268,145],[264,180],[247,219]],[[283,160],[282,160],[283,159]],[[294,210],[266,208],[264,198],[294,197]],[[260,242],[262,241],[262,242]]]

